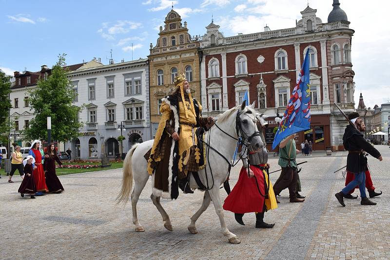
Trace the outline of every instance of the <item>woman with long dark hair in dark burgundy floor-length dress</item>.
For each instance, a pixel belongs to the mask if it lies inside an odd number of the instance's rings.
[[[58,158],[57,150],[54,144],[50,144],[47,147],[47,153],[49,157],[43,162],[43,170],[46,176],[46,186],[49,192],[61,193],[64,191],[59,178],[56,175],[56,162],[62,166],[61,161]]]

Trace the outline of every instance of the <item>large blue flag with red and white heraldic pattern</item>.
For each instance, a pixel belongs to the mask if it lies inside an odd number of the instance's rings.
[[[295,88],[273,139],[272,149],[287,136],[310,128],[309,50],[306,52]]]

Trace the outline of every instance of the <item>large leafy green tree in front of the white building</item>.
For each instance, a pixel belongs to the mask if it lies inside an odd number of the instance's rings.
[[[29,127],[22,130],[24,140],[47,138],[47,117],[51,116],[52,140],[66,142],[79,136],[78,113],[82,107],[72,104],[75,94],[67,77],[69,71],[65,67],[65,54],[53,66],[47,80],[39,78],[37,88],[29,92],[29,103],[35,117]]]

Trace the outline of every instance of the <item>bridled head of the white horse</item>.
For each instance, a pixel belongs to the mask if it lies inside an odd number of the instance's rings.
[[[245,101],[242,102],[237,111],[236,130],[244,142],[248,141],[251,143],[252,148],[255,149],[254,152],[259,151],[264,146],[257,129],[257,120],[256,111],[254,111],[252,106],[247,107]]]

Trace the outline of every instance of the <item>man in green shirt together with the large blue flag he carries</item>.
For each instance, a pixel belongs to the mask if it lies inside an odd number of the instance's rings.
[[[296,149],[294,136],[296,132],[310,128],[310,71],[309,71],[309,49],[303,60],[301,71],[296,80],[296,85],[292,91],[291,98],[287,104],[286,111],[280,121],[279,128],[273,139],[272,148],[277,145],[280,148],[279,162],[282,167],[279,179],[273,186],[275,194],[279,194],[283,189],[289,188],[290,202],[304,202],[298,198],[296,186],[298,181]],[[300,195],[299,195],[300,196]]]

